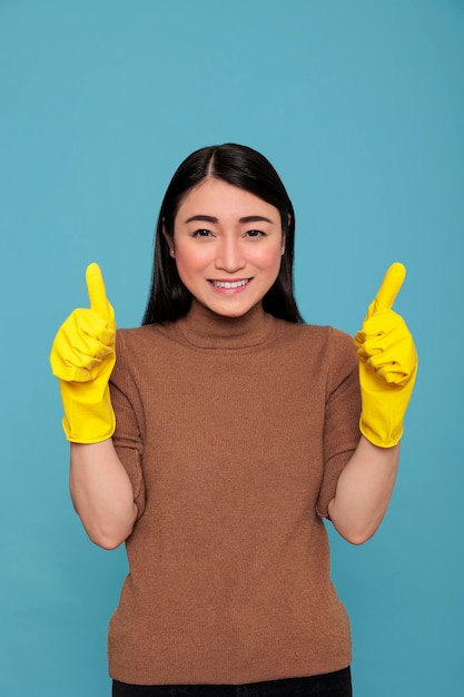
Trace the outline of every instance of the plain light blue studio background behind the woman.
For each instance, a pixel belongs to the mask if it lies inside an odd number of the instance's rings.
[[[261,150],[296,207],[306,321],[354,333],[384,271],[421,354],[387,517],[333,538],[356,697],[462,697],[464,2],[0,2],[0,691],[109,695],[124,549],[68,494],[48,354],[98,261],[140,322],[152,230],[186,155]]]

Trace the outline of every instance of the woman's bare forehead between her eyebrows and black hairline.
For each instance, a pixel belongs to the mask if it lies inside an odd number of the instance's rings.
[[[185,219],[201,214],[219,219],[247,215],[263,215],[276,220],[280,217],[278,209],[263,198],[215,178],[206,179],[190,189],[180,204],[177,216]]]

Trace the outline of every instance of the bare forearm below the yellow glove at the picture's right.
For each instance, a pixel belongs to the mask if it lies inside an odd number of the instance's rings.
[[[361,436],[328,505],[335,529],[348,542],[362,544],[377,530],[392,498],[398,460],[399,444],[377,448]]]

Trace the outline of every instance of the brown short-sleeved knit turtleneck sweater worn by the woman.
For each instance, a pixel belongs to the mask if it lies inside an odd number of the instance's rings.
[[[256,307],[120,330],[115,444],[139,517],[112,678],[243,684],[346,667],[322,517],[359,439],[353,341]]]

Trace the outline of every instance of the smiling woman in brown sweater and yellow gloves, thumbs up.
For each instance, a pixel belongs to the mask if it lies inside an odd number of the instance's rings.
[[[303,324],[294,230],[266,158],[197,150],[161,205],[144,325],[116,334],[92,264],[90,308],[55,340],[75,507],[129,560],[115,697],[352,694],[323,519],[355,544],[378,528],[417,360],[391,310],[401,265],[357,351]]]

